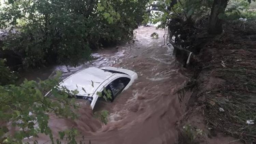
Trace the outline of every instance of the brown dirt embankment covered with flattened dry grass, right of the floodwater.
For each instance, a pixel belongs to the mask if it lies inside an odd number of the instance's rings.
[[[202,30],[206,37],[195,39],[204,43],[194,77],[179,93],[183,100],[182,91],[192,91],[177,122],[180,144],[256,143],[256,23],[225,23],[224,31]]]

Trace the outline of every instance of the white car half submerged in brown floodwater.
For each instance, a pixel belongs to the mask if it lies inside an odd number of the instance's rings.
[[[127,69],[102,67],[87,68],[76,72],[63,80],[59,85],[68,90],[78,90],[77,98],[86,99],[93,109],[98,99],[97,92],[103,89],[111,91],[111,101],[122,91],[126,90],[138,77],[136,72]]]

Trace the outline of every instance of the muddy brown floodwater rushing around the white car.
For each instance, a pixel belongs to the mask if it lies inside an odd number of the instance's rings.
[[[159,39],[152,39],[153,32]],[[84,142],[92,144],[173,144],[178,133],[175,122],[185,108],[174,93],[188,81],[185,70],[172,55],[173,48],[164,44],[164,30],[140,27],[134,31],[135,42],[101,49],[93,54],[95,60],[79,67],[56,66],[42,69],[27,78],[48,77],[61,70],[63,78],[87,67],[113,66],[137,72],[138,79],[115,98],[114,102],[98,100],[94,112],[108,110],[108,124],[93,117],[93,111],[82,107],[79,118],[69,120],[51,116],[49,125],[54,136],[58,131],[76,128]],[[50,143],[40,135],[39,143]]]

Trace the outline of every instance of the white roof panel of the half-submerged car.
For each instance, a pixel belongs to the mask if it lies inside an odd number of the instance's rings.
[[[113,75],[115,74],[99,68],[87,68],[69,76],[60,83],[60,86],[65,86],[68,90],[77,89],[79,91],[77,95],[92,96],[91,94]]]

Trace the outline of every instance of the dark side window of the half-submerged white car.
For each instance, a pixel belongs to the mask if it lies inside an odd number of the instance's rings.
[[[114,97],[116,97],[130,82],[130,78],[120,77],[109,84]]]

